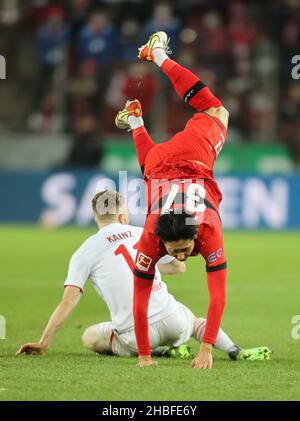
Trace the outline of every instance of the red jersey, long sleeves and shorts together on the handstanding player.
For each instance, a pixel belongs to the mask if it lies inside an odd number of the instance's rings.
[[[212,169],[225,137],[226,129],[219,120],[198,113],[182,132],[167,143],[153,146],[146,157],[148,216],[134,269],[134,319],[139,355],[151,353],[147,303],[156,262],[167,254],[155,229],[159,215],[170,209],[176,212],[184,208],[196,217],[198,236],[192,255],[201,254],[206,261],[210,293],[203,341],[215,343],[225,304],[226,259],[219,216],[222,195]]]

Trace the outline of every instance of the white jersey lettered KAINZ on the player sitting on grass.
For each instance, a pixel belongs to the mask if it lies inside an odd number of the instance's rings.
[[[113,329],[119,333],[134,327],[132,270],[142,232],[142,228],[119,223],[101,228],[73,254],[65,281],[65,286],[77,286],[83,291],[90,278],[110,311]],[[173,259],[164,256],[159,263]],[[171,314],[176,306],[176,300],[169,294],[156,268],[149,302],[149,323]]]

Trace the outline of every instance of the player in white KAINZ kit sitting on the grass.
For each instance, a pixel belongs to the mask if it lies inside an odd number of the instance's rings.
[[[142,229],[128,225],[127,210],[117,192],[106,190],[96,194],[92,206],[98,233],[88,238],[72,256],[64,296],[50,317],[40,341],[22,345],[17,354],[42,354],[49,347],[54,334],[78,304],[84,285],[90,278],[109,308],[111,322],[88,327],[82,336],[84,345],[98,353],[137,355],[132,315],[132,269]],[[109,207],[112,213],[108,213]],[[178,347],[191,337],[199,342],[203,339],[205,319],[195,317],[186,306],[176,301],[161,280],[160,273],[184,271],[185,263],[174,257],[165,256],[158,262],[149,305],[152,350],[159,346]],[[270,356],[266,347],[240,349],[221,329],[216,348],[232,359],[259,360]]]

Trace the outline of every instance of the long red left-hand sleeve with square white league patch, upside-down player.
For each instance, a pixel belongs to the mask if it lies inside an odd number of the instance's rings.
[[[148,327],[148,305],[156,262],[165,253],[160,241],[144,229],[138,245],[134,274],[133,318],[139,355],[151,355]]]

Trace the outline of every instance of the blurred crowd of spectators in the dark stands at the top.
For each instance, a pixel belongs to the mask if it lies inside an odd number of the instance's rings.
[[[182,129],[192,110],[137,60],[149,34],[163,30],[173,57],[230,110],[230,141],[283,142],[300,161],[300,83],[291,76],[300,45],[297,0],[25,3],[2,2],[0,25],[11,44],[1,45],[14,62],[22,46],[33,52],[23,91],[27,128],[72,133],[71,160],[83,144],[99,159],[98,137],[116,132],[114,115],[128,98],[140,99],[152,132]],[[22,69],[14,76],[22,86]]]

